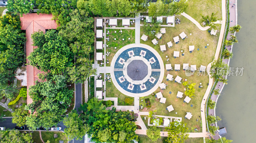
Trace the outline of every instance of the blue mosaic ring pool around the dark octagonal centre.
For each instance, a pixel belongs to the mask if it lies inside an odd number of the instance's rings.
[[[151,65],[151,68],[152,68],[152,72],[151,72],[150,77],[152,76],[152,77],[154,77],[154,78],[156,79],[154,83],[149,82],[149,80],[147,80],[146,82],[144,82],[143,84],[145,84],[145,86],[146,86],[146,89],[144,89],[144,90],[141,90],[141,89],[140,89],[140,85],[138,85],[138,84],[133,84],[134,87],[133,87],[132,90],[130,90],[130,89],[127,89],[128,86],[129,86],[129,84],[130,84],[130,82],[128,82],[127,80],[125,80],[124,82],[121,83],[121,82],[118,80],[119,77],[124,76],[123,71],[114,71],[114,75],[115,75],[115,79],[116,79],[117,83],[121,86],[122,89],[124,89],[124,90],[126,90],[126,91],[128,91],[128,92],[131,92],[131,93],[144,93],[144,92],[146,92],[146,91],[152,89],[152,88],[156,85],[156,83],[157,83],[157,81],[159,80],[159,77],[160,77],[160,70],[159,70],[159,71],[155,71],[155,70],[154,70],[154,69],[160,69],[160,64],[159,64],[159,61],[158,61],[156,55],[153,54],[153,53],[152,53],[151,51],[149,51],[148,49],[146,49],[146,48],[141,48],[141,47],[133,47],[133,48],[129,48],[129,49],[127,49],[127,50],[124,50],[124,51],[117,57],[117,59],[116,59],[116,61],[115,61],[114,68],[117,68],[117,69],[123,69],[123,68],[124,68],[124,64],[122,65],[122,64],[120,64],[118,61],[119,61],[120,58],[124,59],[124,61],[127,61],[129,58],[131,58],[131,57],[129,56],[129,54],[128,54],[128,51],[133,51],[133,52],[134,52],[134,55],[133,55],[133,56],[140,56],[141,50],[146,51],[146,54],[145,54],[144,58],[147,59],[147,61],[149,61],[149,59],[151,59],[152,57],[155,59],[155,60],[154,60],[155,62],[154,62],[153,64],[150,64],[150,65]],[[125,76],[124,76],[124,77],[125,77]]]

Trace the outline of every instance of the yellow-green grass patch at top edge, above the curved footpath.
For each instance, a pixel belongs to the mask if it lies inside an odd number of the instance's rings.
[[[221,0],[188,0],[187,3],[188,8],[185,13],[196,19],[199,23],[202,19],[201,14],[211,16],[212,12],[214,12],[217,18],[221,18]]]

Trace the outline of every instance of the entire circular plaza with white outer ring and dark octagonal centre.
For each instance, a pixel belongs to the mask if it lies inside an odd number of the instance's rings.
[[[164,78],[164,63],[155,49],[130,44],[116,52],[111,61],[111,77],[116,88],[130,97],[153,93]]]

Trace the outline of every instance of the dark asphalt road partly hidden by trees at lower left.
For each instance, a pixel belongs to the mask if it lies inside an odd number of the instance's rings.
[[[82,84],[78,83],[76,84],[76,94],[75,94],[75,109],[78,112],[78,108],[80,107],[80,104],[82,104]],[[78,112],[79,114],[81,113]],[[68,115],[67,115],[68,116]],[[5,121],[0,122],[0,127],[5,127],[6,129],[14,129],[16,124],[12,123],[12,117],[4,117]],[[61,126],[61,131],[64,132],[64,129],[66,128],[65,125],[63,125],[63,122],[60,122],[60,124],[58,124],[58,126]],[[28,127],[26,126],[25,130],[29,130]],[[83,140],[79,141],[79,140],[71,140],[70,143],[84,143],[84,138]]]

